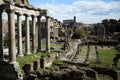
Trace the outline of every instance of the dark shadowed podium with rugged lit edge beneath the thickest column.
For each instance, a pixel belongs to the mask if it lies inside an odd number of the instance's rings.
[[[23,80],[19,64],[0,62],[0,80]]]

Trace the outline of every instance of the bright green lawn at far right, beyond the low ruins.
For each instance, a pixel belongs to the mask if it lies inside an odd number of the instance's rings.
[[[109,50],[99,49],[98,52],[99,52],[99,56],[100,56],[102,63],[97,64],[95,61],[92,61],[90,66],[110,67],[113,64],[113,58],[118,53],[118,51],[114,49],[109,49]],[[120,63],[118,64],[120,66]]]

